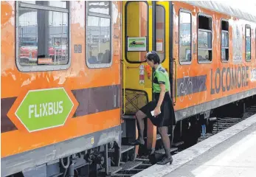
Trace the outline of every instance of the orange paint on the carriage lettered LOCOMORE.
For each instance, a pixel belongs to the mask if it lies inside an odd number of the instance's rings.
[[[174,75],[174,79],[183,78],[185,76],[195,77],[199,75],[207,75],[206,79],[206,91],[201,91],[198,93],[192,94],[191,100],[186,95],[184,100],[180,100],[180,97],[177,97],[175,110],[180,110],[184,108],[188,108],[193,105],[199,105],[201,103],[210,102],[212,100],[217,100],[222,97],[226,97],[229,95],[235,95],[239,92],[248,91],[250,89],[256,88],[256,82],[252,82],[251,78],[251,69],[256,69],[256,58],[255,58],[255,28],[256,24],[250,23],[248,21],[239,20],[238,18],[230,17],[229,15],[224,15],[221,13],[215,13],[210,10],[206,10],[201,7],[191,6],[190,4],[185,4],[181,1],[173,1],[173,58],[176,58],[177,63],[177,76]],[[179,10],[190,10],[192,13],[192,62],[189,65],[181,65],[179,63]],[[198,53],[197,53],[197,35],[198,35],[198,13],[204,13],[210,15],[212,17],[212,62],[211,63],[198,63]],[[221,18],[229,20],[229,61],[224,63],[221,61]],[[242,62],[239,64],[234,63],[233,61],[233,48],[232,48],[232,25],[234,23],[241,24],[241,29],[243,28],[243,44],[242,44]],[[246,62],[245,60],[245,25],[250,24],[252,27],[252,36],[251,36],[251,54],[252,60],[250,62]],[[215,88],[215,72],[217,69],[224,68],[238,68],[238,66],[248,66],[249,67],[249,76],[248,76],[248,86],[241,86],[241,88],[230,89],[229,91],[222,91],[222,88],[218,92],[215,91],[215,94],[211,94],[211,88]],[[211,69],[212,69],[212,87],[211,87]],[[175,69],[173,69],[175,71]],[[184,75],[183,75],[184,73]],[[227,78],[229,82],[231,78]],[[190,78],[191,80],[191,78]],[[240,77],[239,77],[240,80]],[[217,78],[217,83],[219,82],[219,77]],[[175,80],[174,80],[175,83]],[[224,86],[226,86],[226,73],[224,73]],[[176,89],[179,89],[177,86]],[[178,91],[178,90],[176,90]],[[175,100],[174,100],[175,101]]]

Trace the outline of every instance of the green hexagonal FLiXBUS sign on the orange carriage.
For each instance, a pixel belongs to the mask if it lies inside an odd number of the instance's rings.
[[[15,112],[27,131],[64,125],[74,104],[65,89],[41,89],[27,93]]]

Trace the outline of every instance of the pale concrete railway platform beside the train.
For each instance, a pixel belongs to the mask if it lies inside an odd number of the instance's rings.
[[[256,114],[134,177],[250,177],[256,174]]]

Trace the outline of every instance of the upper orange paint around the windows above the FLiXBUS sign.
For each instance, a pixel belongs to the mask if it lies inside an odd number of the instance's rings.
[[[15,1],[1,2],[1,7],[7,7],[7,10],[14,10]],[[77,1],[71,1],[71,13],[75,11],[75,15],[85,19],[84,3],[77,6]],[[117,10],[120,13],[120,2],[117,4]],[[10,8],[12,7],[12,8]],[[79,7],[75,9],[75,7]],[[5,10],[5,11],[7,11]],[[8,14],[10,13],[8,11]],[[9,15],[10,16],[10,15]],[[1,25],[3,20],[7,18],[1,16]],[[114,43],[113,48],[116,50],[116,55],[113,56],[112,66],[102,69],[89,69],[86,65],[86,29],[84,24],[71,24],[71,66],[67,70],[51,71],[51,72],[19,72],[15,65],[15,26],[10,21],[14,21],[14,13],[9,20],[1,27],[1,83],[4,84],[1,91],[1,98],[17,97],[24,89],[43,89],[49,87],[66,86],[72,89],[86,89],[99,86],[110,86],[120,84],[120,47],[121,36],[117,35],[119,41]],[[74,17],[72,17],[73,19]],[[116,24],[120,26],[120,18]],[[83,26],[82,26],[83,25]],[[121,28],[120,28],[121,30]],[[120,31],[119,30],[119,31]],[[74,52],[74,45],[82,44],[82,53]],[[104,79],[102,79],[104,76]]]

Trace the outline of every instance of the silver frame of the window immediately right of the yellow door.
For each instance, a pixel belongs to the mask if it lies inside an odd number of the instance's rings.
[[[181,61],[180,60],[180,49],[179,49],[179,64],[180,65],[190,65],[192,63],[192,59],[193,59],[193,49],[192,49],[192,35],[193,35],[193,32],[192,32],[192,13],[191,13],[190,10],[186,10],[186,9],[183,9],[183,8],[179,9],[179,27],[178,27],[179,30],[180,30],[180,16],[181,16],[181,13],[190,13],[190,54],[191,54],[191,60],[190,61]],[[179,45],[179,48],[180,48],[180,45]]]

